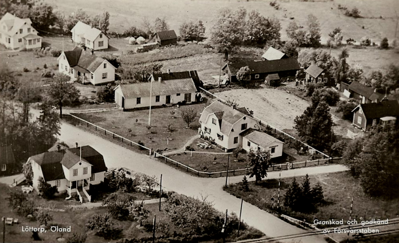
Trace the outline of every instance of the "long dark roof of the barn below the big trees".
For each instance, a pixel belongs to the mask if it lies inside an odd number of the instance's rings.
[[[248,66],[251,70],[251,74],[260,73],[277,73],[282,71],[299,70],[299,63],[295,58],[284,58],[273,61],[244,61],[239,63],[228,64],[230,72],[235,73],[241,68]]]

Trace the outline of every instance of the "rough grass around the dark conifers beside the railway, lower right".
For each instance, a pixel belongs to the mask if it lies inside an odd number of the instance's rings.
[[[296,177],[299,184],[302,183],[304,177]],[[292,182],[292,178],[281,179],[280,202],[284,202],[284,194]],[[318,208],[317,212],[311,214],[301,214],[297,212],[289,215],[297,219],[306,219],[306,222],[313,222],[314,219],[330,220],[330,219],[349,219],[351,208],[351,200],[353,198],[352,219],[361,221],[360,218],[370,219],[392,219],[397,218],[399,214],[398,204],[399,198],[383,199],[372,198],[366,195],[357,179],[353,178],[349,172],[338,172],[330,174],[320,174],[310,176],[310,184],[313,187],[319,182],[323,187],[324,198],[326,203]],[[271,198],[277,199],[278,180],[264,180],[259,185],[254,182],[249,183],[249,192],[241,190],[242,183],[230,185],[225,190],[232,195],[243,198],[246,202],[251,203],[260,209],[269,211],[272,205]],[[276,205],[275,205],[276,206]],[[283,212],[287,214],[287,212]]]

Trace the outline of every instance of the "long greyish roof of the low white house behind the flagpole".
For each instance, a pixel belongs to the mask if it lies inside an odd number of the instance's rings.
[[[125,99],[150,97],[151,82],[120,85],[120,88]],[[192,78],[152,82],[152,96],[196,92],[197,88]]]

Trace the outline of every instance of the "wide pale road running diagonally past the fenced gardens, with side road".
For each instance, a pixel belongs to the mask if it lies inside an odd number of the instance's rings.
[[[75,142],[79,145],[91,145],[104,155],[108,168],[126,167],[131,170],[148,175],[160,176],[163,174],[163,186],[169,191],[176,191],[192,197],[207,197],[213,202],[214,207],[220,211],[228,209],[228,212],[239,213],[241,200],[231,196],[222,190],[225,178],[198,178],[176,170],[166,164],[153,160],[147,155],[139,154],[127,148],[121,147],[94,134],[78,129],[73,125],[62,123],[60,140],[70,146]],[[282,171],[282,177],[297,175],[318,174],[346,170],[341,165],[301,168]],[[270,172],[268,178],[278,178],[278,172]],[[241,181],[242,177],[231,177],[229,183]],[[303,233],[304,230],[296,228],[273,215],[245,203],[243,204],[242,219],[250,226],[264,232],[269,237],[278,237],[288,234]],[[323,237],[307,237],[307,243],[324,243]],[[298,241],[296,241],[298,242]]]

